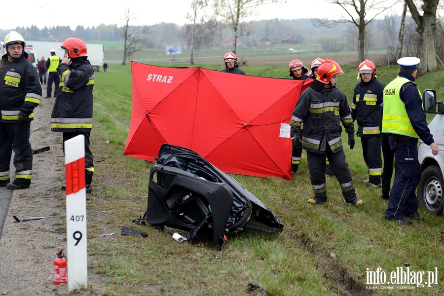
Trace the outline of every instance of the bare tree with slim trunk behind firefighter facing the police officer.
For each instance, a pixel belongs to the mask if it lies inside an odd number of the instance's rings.
[[[337,23],[351,23],[358,29],[358,50],[359,60],[365,60],[366,26],[379,14],[393,5],[393,0],[326,0],[330,4],[339,5],[345,15],[341,15],[339,20],[315,19],[313,24],[322,27],[334,27]],[[391,3],[391,4],[388,4]]]

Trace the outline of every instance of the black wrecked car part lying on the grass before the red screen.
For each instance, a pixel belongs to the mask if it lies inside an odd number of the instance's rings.
[[[256,196],[196,152],[169,144],[151,168],[146,220],[189,231],[188,239],[244,229],[282,231],[283,224]],[[221,245],[222,247],[222,245]]]

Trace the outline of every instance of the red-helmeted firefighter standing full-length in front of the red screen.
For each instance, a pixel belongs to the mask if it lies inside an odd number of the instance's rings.
[[[314,197],[308,202],[321,204],[327,201],[327,156],[345,201],[360,206],[364,201],[356,196],[342,148],[339,122],[342,122],[348,134],[350,149],[355,145],[355,128],[347,98],[336,88],[337,75],[342,73],[341,67],[333,61],[325,61],[319,66],[316,80],[304,91],[296,104],[291,125],[298,129],[304,122],[302,147],[307,151],[310,181],[314,192]]]

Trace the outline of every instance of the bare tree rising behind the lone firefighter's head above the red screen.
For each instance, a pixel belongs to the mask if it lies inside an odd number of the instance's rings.
[[[236,53],[237,38],[253,33],[250,27],[241,26],[241,22],[255,15],[260,5],[279,2],[283,0],[215,0],[215,11],[233,30],[233,53]]]

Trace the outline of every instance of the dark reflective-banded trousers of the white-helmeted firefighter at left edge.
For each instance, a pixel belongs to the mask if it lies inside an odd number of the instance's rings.
[[[33,176],[33,149],[29,143],[31,121],[0,122],[0,185],[10,181],[9,167],[14,151],[14,184],[29,187]]]

